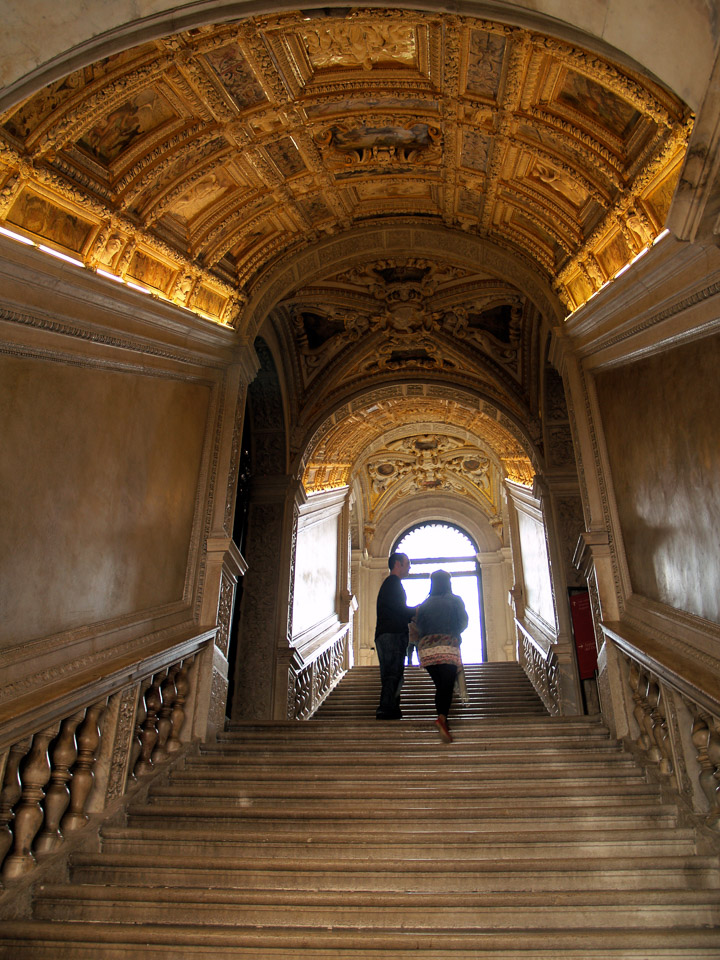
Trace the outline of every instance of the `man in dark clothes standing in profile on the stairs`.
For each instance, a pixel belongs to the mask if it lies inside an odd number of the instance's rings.
[[[410,572],[410,560],[404,553],[393,553],[388,559],[390,574],[380,587],[377,598],[375,649],[380,663],[380,705],[378,720],[399,720],[400,688],[405,675],[405,652],[408,644],[408,623],[415,607],[407,605],[402,578]]]

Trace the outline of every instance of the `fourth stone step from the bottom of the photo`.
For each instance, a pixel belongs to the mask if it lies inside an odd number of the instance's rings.
[[[129,845],[129,846],[128,846]],[[578,857],[683,857],[697,853],[695,834],[691,829],[674,827],[672,830],[574,830],[543,832],[538,829],[527,836],[509,831],[493,832],[485,836],[477,830],[426,831],[419,843],[417,833],[404,836],[386,836],[382,840],[368,839],[363,830],[348,829],[341,837],[335,828],[315,829],[311,834],[280,824],[255,824],[252,832],[243,824],[225,823],[222,831],[217,825],[196,825],[172,821],[144,821],[128,826],[105,826],[102,830],[103,850],[108,852],[137,852],[142,849],[148,857],[179,853],[188,860],[225,860],[227,857],[263,856],[272,859],[305,858],[314,863],[324,859],[344,859],[348,862],[375,861],[391,857],[400,859],[434,859],[437,857],[466,860],[542,860]],[[134,850],[131,851],[130,847]]]

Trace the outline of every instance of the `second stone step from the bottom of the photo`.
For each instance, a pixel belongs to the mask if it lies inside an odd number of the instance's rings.
[[[684,925],[709,926],[720,921],[720,904],[712,890],[544,891],[534,893],[445,893],[412,890],[389,894],[371,891],[250,891],[164,887],[42,884],[34,915],[84,922],[152,924],[235,924],[257,927],[353,927],[362,932],[386,927],[463,930],[583,928],[592,922],[626,929]]]

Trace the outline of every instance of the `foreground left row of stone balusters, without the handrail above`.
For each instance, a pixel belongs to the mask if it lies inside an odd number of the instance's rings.
[[[132,682],[0,745],[3,884],[56,853],[92,814],[106,811],[189,739],[186,704],[197,654],[167,656],[153,673],[142,676],[140,669]]]

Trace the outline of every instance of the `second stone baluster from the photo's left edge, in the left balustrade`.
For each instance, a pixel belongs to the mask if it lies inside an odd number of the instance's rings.
[[[40,803],[45,796],[43,788],[50,779],[48,744],[57,733],[57,728],[58,725],[54,723],[36,733],[30,752],[20,763],[22,792],[15,807],[13,845],[3,864],[3,880],[15,880],[35,865],[35,857],[30,848],[43,822]]]

